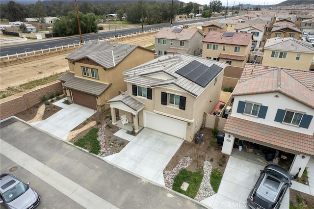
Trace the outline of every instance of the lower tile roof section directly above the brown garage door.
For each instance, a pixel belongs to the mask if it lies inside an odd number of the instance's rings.
[[[100,96],[107,88],[109,88],[109,86],[111,86],[111,83],[105,84],[84,78],[72,77],[63,83],[63,86],[84,93]]]

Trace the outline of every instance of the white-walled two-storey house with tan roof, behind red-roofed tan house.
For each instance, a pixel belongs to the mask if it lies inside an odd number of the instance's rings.
[[[253,34],[252,45],[254,44],[254,47],[256,48],[259,48],[261,45],[264,31],[265,31],[264,24],[238,23],[235,25],[235,32]]]

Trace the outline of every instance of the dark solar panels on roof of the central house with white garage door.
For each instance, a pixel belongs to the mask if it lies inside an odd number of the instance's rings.
[[[215,64],[209,67],[193,60],[192,62],[177,70],[176,73],[193,81],[194,83],[197,83],[202,87],[206,87],[210,80],[215,78],[221,69],[221,67]]]

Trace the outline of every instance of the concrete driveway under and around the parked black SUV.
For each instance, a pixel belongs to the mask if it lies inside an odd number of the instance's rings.
[[[264,167],[230,156],[218,192],[201,202],[213,209],[248,208],[246,199]],[[289,208],[289,189],[280,208]]]

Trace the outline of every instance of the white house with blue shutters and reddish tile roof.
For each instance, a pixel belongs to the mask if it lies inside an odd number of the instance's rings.
[[[246,64],[232,93],[221,152],[231,155],[239,141],[254,143],[254,152],[278,150],[280,160],[289,156],[290,174],[301,177],[314,156],[313,83],[312,71]]]

